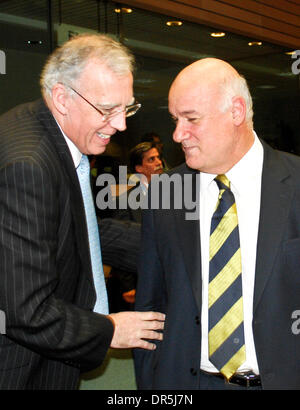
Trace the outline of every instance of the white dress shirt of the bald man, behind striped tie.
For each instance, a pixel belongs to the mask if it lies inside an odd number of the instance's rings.
[[[263,147],[254,133],[254,144],[244,157],[226,173],[235,196],[240,247],[242,256],[242,287],[244,303],[244,329],[246,361],[239,372],[251,370],[259,374],[252,331],[253,293],[256,264],[256,247],[260,214],[261,177]],[[214,213],[219,188],[214,181],[216,175],[200,174],[200,239],[202,264],[202,370],[218,372],[208,358],[208,278],[209,278],[209,237],[211,218]]]

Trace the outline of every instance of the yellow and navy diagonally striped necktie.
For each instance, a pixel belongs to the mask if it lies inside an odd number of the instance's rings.
[[[209,360],[227,380],[246,360],[238,217],[230,182],[218,175],[209,255]]]

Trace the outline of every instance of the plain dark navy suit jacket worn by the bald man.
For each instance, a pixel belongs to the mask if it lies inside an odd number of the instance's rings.
[[[300,388],[300,158],[264,145],[253,300],[253,335],[263,389]],[[195,192],[197,172],[190,175]],[[245,181],[246,183],[246,181]],[[187,209],[144,211],[136,309],[166,313],[164,339],[135,351],[140,389],[198,389],[201,355],[199,220]],[[246,309],[247,307],[245,307]],[[294,316],[295,317],[295,316]]]

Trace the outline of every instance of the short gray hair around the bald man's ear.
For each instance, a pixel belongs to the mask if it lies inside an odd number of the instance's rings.
[[[253,126],[253,102],[246,79],[240,74],[226,76],[221,83],[221,88],[224,96],[221,111],[230,109],[233,97],[242,97],[246,103],[246,122]]]

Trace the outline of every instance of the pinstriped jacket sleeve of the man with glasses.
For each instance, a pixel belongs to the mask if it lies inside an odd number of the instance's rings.
[[[7,338],[88,370],[102,362],[114,329],[105,316],[56,292],[57,198],[49,169],[38,161],[22,159],[0,169],[0,309]]]

